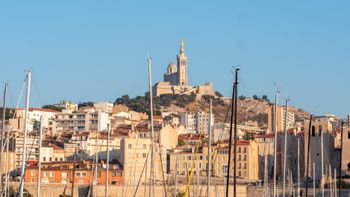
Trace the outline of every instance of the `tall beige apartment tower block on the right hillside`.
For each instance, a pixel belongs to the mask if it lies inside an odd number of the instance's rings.
[[[287,130],[294,128],[295,126],[295,115],[293,112],[288,111],[287,112],[287,120],[286,120],[286,109],[284,106],[277,106],[277,131],[283,132],[284,131],[284,123],[287,123]],[[273,116],[274,116],[274,106],[271,106],[268,112],[268,133],[274,131],[273,126]]]

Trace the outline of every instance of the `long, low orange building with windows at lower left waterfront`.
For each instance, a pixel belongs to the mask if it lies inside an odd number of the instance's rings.
[[[76,167],[74,169],[74,163]],[[90,161],[63,161],[63,162],[48,162],[42,163],[40,182],[41,183],[74,183],[88,185],[95,178],[94,170],[92,170],[92,162]],[[109,184],[122,185],[123,171],[117,166],[110,166],[109,169]],[[38,166],[30,165],[25,171],[24,181],[27,183],[36,183],[38,177]],[[100,164],[97,173],[98,184],[106,183],[106,169]]]

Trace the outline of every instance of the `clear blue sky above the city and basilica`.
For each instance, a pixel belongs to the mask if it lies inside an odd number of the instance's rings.
[[[162,80],[185,40],[191,84],[282,98],[315,114],[350,112],[349,1],[22,1],[0,3],[0,80],[14,105],[33,70],[32,104],[114,101]]]

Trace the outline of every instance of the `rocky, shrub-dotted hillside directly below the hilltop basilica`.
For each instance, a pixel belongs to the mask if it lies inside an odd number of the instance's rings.
[[[160,114],[162,111],[170,112],[199,112],[209,111],[209,96],[197,97],[196,95],[162,95],[156,97],[155,109],[156,114]],[[229,122],[230,120],[230,103],[231,99],[217,95],[213,99],[213,113],[215,114],[216,121]],[[138,112],[149,112],[148,102],[149,96],[138,96],[130,99],[124,95],[116,100],[116,104],[124,104],[130,109]],[[268,111],[272,104],[269,102],[266,96],[259,98],[253,96],[253,98],[246,98],[241,96],[238,100],[238,122],[249,126],[258,126],[261,128],[267,127]],[[309,113],[295,107],[290,107],[295,115],[296,119],[308,118]]]

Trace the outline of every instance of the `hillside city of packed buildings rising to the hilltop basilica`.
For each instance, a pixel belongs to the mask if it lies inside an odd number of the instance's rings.
[[[306,175],[311,179],[315,174],[320,186],[332,184],[337,174],[349,177],[349,119],[325,115],[310,120],[301,109],[277,105],[275,111],[267,96],[240,96],[237,125],[231,125],[231,98],[214,92],[211,83],[191,86],[187,66],[181,41],[177,64],[169,64],[164,82],[151,90],[153,116],[149,92],[136,98],[124,95],[115,103],[63,100],[29,108],[27,119],[26,110],[17,109],[2,131],[9,139],[9,150],[1,151],[3,179],[19,182],[24,172],[24,182],[32,184],[76,184],[89,191],[108,184],[133,192],[155,184],[174,192],[177,184],[193,187],[208,180],[224,186],[234,174],[240,185],[265,187],[272,185],[274,175],[277,183],[290,187]],[[237,149],[229,152],[234,126]],[[345,185],[350,182],[344,180]]]

